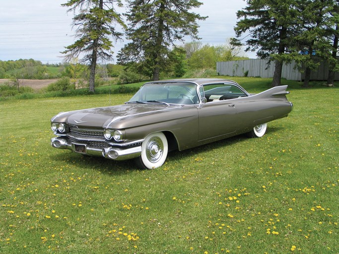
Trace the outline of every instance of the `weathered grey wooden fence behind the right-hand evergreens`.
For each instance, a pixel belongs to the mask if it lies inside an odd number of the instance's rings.
[[[216,72],[226,76],[248,76],[272,78],[274,73],[274,62],[266,59],[250,59],[230,62],[217,62]],[[311,72],[311,80],[327,80],[329,65],[322,63],[317,70]],[[288,80],[303,80],[304,73],[296,68],[296,63],[282,65],[281,77]],[[339,80],[339,72],[336,72],[335,80]]]

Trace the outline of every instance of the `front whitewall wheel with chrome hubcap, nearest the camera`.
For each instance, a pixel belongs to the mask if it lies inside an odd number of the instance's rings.
[[[168,153],[168,143],[166,136],[162,132],[149,134],[141,145],[141,155],[137,162],[145,169],[161,167]]]

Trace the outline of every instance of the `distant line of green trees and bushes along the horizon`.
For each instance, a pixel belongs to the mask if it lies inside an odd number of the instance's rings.
[[[164,77],[197,76],[196,72],[216,75],[216,62],[248,59],[240,47],[231,47],[228,43],[218,46],[190,42],[177,46],[166,59]],[[207,71],[206,71],[207,70]],[[194,74],[193,74],[194,72]],[[98,65],[96,82],[104,77],[119,77],[118,83],[126,84],[150,79],[152,70],[144,63],[124,63]],[[42,64],[33,59],[0,61],[0,78],[8,79],[50,79],[69,77],[87,80],[88,65],[79,64],[75,59],[70,63]]]

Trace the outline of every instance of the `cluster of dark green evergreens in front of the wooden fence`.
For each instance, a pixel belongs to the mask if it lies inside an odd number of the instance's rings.
[[[240,21],[234,29],[238,38],[251,34],[244,43],[247,51],[257,50],[260,58],[275,60],[273,85],[280,84],[282,64],[295,60],[305,69],[307,86],[310,70],[319,61],[333,58],[335,44],[331,40],[338,38],[335,29],[338,1],[248,0],[247,3],[248,6],[237,12]],[[232,42],[241,44],[239,40]],[[337,48],[338,45],[336,52]],[[336,61],[332,60],[332,69]]]

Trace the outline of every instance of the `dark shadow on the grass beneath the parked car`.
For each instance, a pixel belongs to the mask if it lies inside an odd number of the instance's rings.
[[[270,127],[267,129],[267,134],[265,136],[271,135],[275,132],[280,132],[281,129],[283,129],[283,127]],[[240,134],[183,151],[171,151],[168,153],[166,162],[170,163],[171,161],[178,161],[192,156],[198,156],[201,153],[210,152],[213,150],[217,152],[218,149],[222,147],[231,146],[238,142],[246,142],[249,139],[251,138],[247,137],[246,134]],[[265,139],[263,139],[263,142],[265,142]],[[136,166],[134,159],[125,161],[114,161],[105,159],[103,157],[85,156],[75,152],[71,152],[69,150],[64,150],[60,153],[57,153],[53,156],[53,158],[51,158],[51,160],[66,162],[67,164],[76,165],[77,167],[82,169],[96,170],[107,174],[114,173],[115,175],[123,175],[129,172],[142,170]]]

